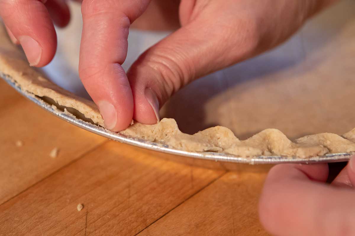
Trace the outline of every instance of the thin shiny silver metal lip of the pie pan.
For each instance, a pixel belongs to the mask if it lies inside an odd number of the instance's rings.
[[[7,84],[15,88],[17,92],[22,94],[27,99],[31,100],[33,103],[37,104],[42,109],[52,113],[53,115],[59,117],[62,120],[65,120],[72,125],[83,128],[89,132],[98,134],[100,136],[109,138],[111,140],[115,140],[121,143],[130,144],[133,146],[137,146],[140,148],[145,148],[149,150],[164,152],[168,154],[184,156],[184,157],[192,157],[196,159],[204,159],[210,161],[222,161],[222,162],[234,162],[234,163],[247,163],[247,164],[279,164],[279,163],[300,163],[300,164],[310,164],[310,163],[325,163],[325,162],[342,162],[348,161],[351,156],[355,154],[355,152],[345,152],[345,153],[331,153],[326,154],[324,156],[316,156],[310,158],[299,158],[299,157],[286,157],[286,156],[255,156],[255,157],[238,157],[234,155],[229,155],[225,153],[219,152],[191,152],[191,151],[182,151],[173,148],[169,148],[168,145],[154,143],[143,139],[131,138],[124,136],[119,133],[114,133],[100,127],[98,125],[94,125],[92,123],[88,123],[86,121],[76,119],[74,116],[66,114],[58,109],[52,107],[52,105],[44,102],[37,96],[33,94],[27,93],[21,90],[21,87],[17,85],[10,76],[1,73],[0,77],[4,79]]]

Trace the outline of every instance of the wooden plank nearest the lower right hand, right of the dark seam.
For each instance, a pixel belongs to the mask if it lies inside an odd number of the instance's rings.
[[[138,236],[267,235],[257,202],[266,174],[223,175]]]

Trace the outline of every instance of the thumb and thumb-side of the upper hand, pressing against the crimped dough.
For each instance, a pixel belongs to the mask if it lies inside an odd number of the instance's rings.
[[[127,73],[133,119],[157,122],[159,107],[182,86],[277,46],[332,1],[181,0],[182,28],[144,52]]]

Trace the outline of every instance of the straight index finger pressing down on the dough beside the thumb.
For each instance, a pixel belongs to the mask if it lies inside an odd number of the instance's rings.
[[[120,131],[133,117],[133,96],[122,63],[130,24],[149,0],[84,0],[79,75],[105,126]]]

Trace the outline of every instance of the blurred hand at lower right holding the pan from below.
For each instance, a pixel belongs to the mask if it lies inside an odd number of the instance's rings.
[[[355,235],[355,158],[331,185],[328,165],[273,167],[259,203],[262,225],[272,235]]]

